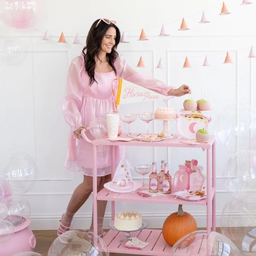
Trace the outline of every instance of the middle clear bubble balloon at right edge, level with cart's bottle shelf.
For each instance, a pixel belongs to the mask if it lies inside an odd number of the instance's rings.
[[[256,151],[243,150],[226,162],[222,178],[225,188],[239,201],[256,202]]]

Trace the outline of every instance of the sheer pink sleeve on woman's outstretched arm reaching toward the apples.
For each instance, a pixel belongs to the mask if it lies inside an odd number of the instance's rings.
[[[123,57],[118,57],[116,59],[115,66],[117,69],[117,78],[122,78],[129,82],[136,83],[137,85],[143,86],[154,92],[161,93],[162,95],[167,95],[170,89],[175,89],[175,87],[167,86],[164,82],[156,78],[139,74],[126,64],[126,60]]]

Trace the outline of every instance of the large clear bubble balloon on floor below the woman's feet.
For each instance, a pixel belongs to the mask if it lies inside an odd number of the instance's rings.
[[[100,236],[83,230],[69,230],[51,244],[48,256],[109,256],[107,246]]]

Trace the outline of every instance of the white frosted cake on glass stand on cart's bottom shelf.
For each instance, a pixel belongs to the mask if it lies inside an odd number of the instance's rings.
[[[133,231],[142,226],[142,217],[138,212],[120,212],[115,216],[114,226],[118,230]]]

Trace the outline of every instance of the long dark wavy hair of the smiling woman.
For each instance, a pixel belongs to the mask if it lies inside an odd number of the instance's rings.
[[[89,33],[87,35],[87,38],[86,38],[86,46],[83,48],[83,51],[82,51],[83,58],[85,60],[85,71],[87,72],[87,74],[90,77],[90,86],[92,85],[93,82],[96,81],[94,78],[94,69],[95,69],[95,64],[96,64],[95,56],[98,57],[98,54],[100,52],[102,38],[106,34],[106,31],[110,27],[114,27],[116,29],[116,43],[112,47],[112,51],[110,53],[106,54],[107,62],[113,68],[113,70],[115,71],[115,74],[116,74],[116,68],[113,65],[113,63],[115,62],[116,58],[118,57],[118,52],[116,51],[116,48],[117,48],[117,45],[119,44],[120,38],[121,38],[119,28],[115,24],[113,24],[113,23],[107,24],[101,20],[100,23],[98,24],[98,26],[96,27],[96,24],[98,23],[98,21],[99,21],[99,19],[94,21],[94,23],[92,24],[92,26],[89,30]]]

